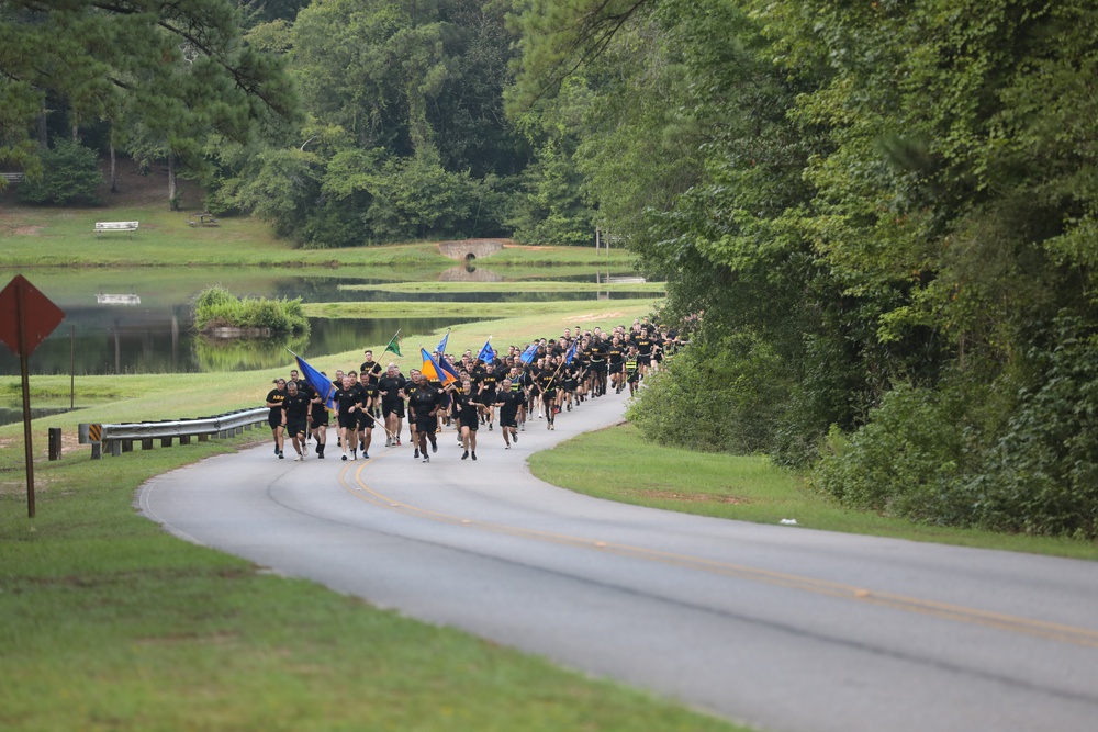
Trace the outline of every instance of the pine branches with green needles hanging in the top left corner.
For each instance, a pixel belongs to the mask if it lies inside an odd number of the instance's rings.
[[[48,101],[77,124],[128,115],[205,169],[209,134],[243,140],[295,112],[280,60],[244,43],[238,20],[228,0],[4,0],[0,162],[37,170],[30,140]]]

